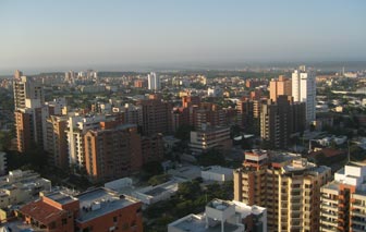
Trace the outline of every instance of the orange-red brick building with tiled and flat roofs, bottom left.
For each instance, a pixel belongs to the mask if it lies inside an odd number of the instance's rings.
[[[63,192],[42,195],[19,211],[26,224],[47,232],[142,232],[142,204],[99,187],[76,196]]]

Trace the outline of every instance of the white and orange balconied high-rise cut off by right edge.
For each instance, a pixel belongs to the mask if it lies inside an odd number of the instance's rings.
[[[320,192],[320,231],[366,231],[366,163],[347,163]]]

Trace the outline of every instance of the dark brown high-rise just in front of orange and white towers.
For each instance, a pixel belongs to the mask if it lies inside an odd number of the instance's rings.
[[[286,148],[290,135],[305,127],[305,105],[294,103],[292,97],[281,95],[277,102],[263,103],[260,137],[273,148]],[[294,131],[294,130],[298,131]]]

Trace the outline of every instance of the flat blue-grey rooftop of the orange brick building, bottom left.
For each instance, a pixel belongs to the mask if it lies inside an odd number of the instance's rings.
[[[137,203],[131,198],[120,197],[119,194],[99,187],[89,192],[85,192],[76,196],[80,200],[80,217],[77,221],[85,222],[102,215],[122,209]]]

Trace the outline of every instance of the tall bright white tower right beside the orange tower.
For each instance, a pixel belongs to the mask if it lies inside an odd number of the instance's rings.
[[[300,66],[292,73],[292,97],[294,101],[306,103],[306,121],[315,120],[316,83],[315,73]]]

